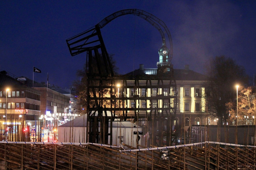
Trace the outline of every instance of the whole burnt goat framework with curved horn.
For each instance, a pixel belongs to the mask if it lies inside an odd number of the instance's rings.
[[[163,45],[159,49],[160,59],[157,63],[157,73],[154,75],[143,73],[135,76],[131,74],[116,76],[114,74],[100,28],[126,14],[137,15],[147,20],[162,36]],[[167,48],[165,36],[169,38],[170,48]],[[171,65],[172,40],[163,21],[137,9],[117,11],[96,26],[66,41],[72,56],[87,53],[88,142],[107,144],[108,137],[110,141],[113,140],[111,132],[113,121],[133,121],[134,123],[148,122],[144,134],[149,135],[147,140],[149,143],[171,144],[171,120],[176,116],[177,96]],[[96,63],[97,67],[93,67],[92,63]],[[106,90],[108,95],[104,93]],[[130,101],[133,103],[131,104]],[[95,116],[96,111],[97,116]],[[107,116],[107,111],[111,112],[111,116]],[[116,115],[118,118],[115,117]],[[108,131],[109,124],[110,131]],[[139,135],[137,140],[140,139]]]

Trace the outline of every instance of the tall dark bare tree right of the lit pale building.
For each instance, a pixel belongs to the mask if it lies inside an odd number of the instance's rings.
[[[248,76],[242,66],[225,56],[213,58],[206,69],[208,77],[205,85],[207,109],[210,114],[219,118],[219,123],[226,124],[229,120],[227,104],[236,99],[235,85],[245,85],[248,82]]]

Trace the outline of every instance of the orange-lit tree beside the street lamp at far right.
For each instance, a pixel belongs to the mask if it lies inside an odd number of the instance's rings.
[[[238,93],[238,112],[236,108],[236,101],[229,102],[227,107],[229,109],[229,121],[234,122],[236,120],[236,114],[238,113],[238,123],[243,125],[255,124],[256,119],[256,98],[255,89],[252,86],[240,87]]]

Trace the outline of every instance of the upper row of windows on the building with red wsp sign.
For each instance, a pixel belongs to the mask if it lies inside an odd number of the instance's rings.
[[[0,97],[6,97],[6,91],[0,91]],[[24,91],[7,91],[7,97],[25,97]],[[29,99],[40,100],[40,95],[32,92],[26,92],[26,97]]]

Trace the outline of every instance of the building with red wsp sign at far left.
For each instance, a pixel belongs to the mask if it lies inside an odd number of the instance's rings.
[[[38,120],[41,115],[41,92],[24,84],[25,78],[17,79],[6,71],[0,72],[0,122],[7,128],[12,128],[16,134],[18,125],[38,129]],[[1,134],[4,134],[1,127]],[[36,133],[36,131],[34,130]],[[34,134],[35,135],[35,134]]]

